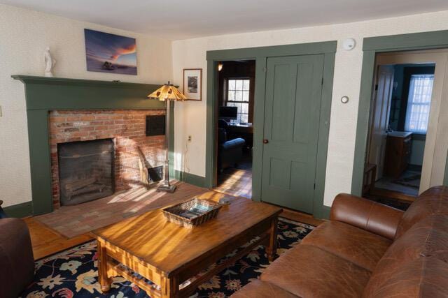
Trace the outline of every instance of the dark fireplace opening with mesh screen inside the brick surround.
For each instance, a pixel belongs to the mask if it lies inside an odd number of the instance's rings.
[[[112,139],[57,144],[60,204],[80,204],[114,193]]]

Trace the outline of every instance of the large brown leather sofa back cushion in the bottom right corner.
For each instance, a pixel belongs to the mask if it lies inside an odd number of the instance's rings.
[[[397,281],[406,278],[407,281],[400,282],[400,285],[405,286],[409,283],[414,290],[419,291],[425,290],[432,282],[442,285],[443,283],[435,278],[437,274],[431,275],[426,266],[432,268],[431,270],[439,270],[440,275],[445,274],[444,285],[447,285],[447,262],[448,216],[428,216],[407,230],[384,253],[367,284],[365,295],[382,297],[380,294],[384,294],[385,289],[388,291],[395,289],[395,285],[391,283],[392,276],[393,278],[397,276]]]

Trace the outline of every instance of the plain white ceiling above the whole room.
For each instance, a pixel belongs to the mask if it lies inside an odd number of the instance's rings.
[[[448,10],[447,0],[0,0],[172,40]]]

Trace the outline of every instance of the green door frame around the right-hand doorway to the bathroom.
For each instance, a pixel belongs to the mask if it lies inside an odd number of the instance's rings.
[[[382,52],[433,50],[441,48],[448,48],[448,30],[364,38],[363,70],[361,72],[353,176],[351,179],[351,193],[353,195],[361,195],[363,188],[370,100],[374,84],[376,54]],[[448,185],[447,166],[445,166],[444,185]]]

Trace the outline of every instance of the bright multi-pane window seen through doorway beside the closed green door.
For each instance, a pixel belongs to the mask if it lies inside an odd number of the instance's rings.
[[[238,107],[238,122],[249,121],[249,85],[248,79],[229,79],[227,100],[228,107]]]

